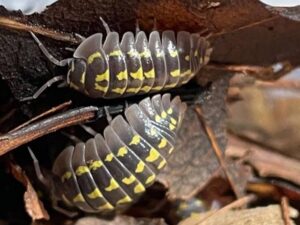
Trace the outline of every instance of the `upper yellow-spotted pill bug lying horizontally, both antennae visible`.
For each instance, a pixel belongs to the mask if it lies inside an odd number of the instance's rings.
[[[208,63],[212,48],[199,34],[180,31],[152,31],[149,41],[145,32],[136,36],[126,32],[121,42],[119,34],[96,33],[84,39],[73,58],[55,59],[31,32],[45,56],[58,66],[68,65],[66,77],[57,76],[44,84],[33,96],[37,98],[52,83],[64,80],[66,85],[92,98],[119,98],[159,92],[187,83]]]

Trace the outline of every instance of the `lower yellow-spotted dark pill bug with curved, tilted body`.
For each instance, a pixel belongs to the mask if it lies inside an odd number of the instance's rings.
[[[127,121],[116,116],[104,137],[65,148],[52,167],[52,198],[89,213],[124,210],[166,165],[185,110],[179,97],[147,97],[125,110]]]

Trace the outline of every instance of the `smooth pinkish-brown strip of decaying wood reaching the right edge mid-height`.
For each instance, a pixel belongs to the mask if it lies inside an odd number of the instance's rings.
[[[263,147],[230,137],[228,157],[240,158],[253,166],[262,177],[279,177],[300,185],[300,163]]]

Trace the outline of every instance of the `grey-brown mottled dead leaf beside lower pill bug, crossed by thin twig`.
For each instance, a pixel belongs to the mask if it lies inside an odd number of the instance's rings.
[[[227,86],[226,78],[216,81],[200,96],[205,120],[216,134],[223,151],[226,145],[224,122]],[[159,181],[170,188],[171,198],[189,198],[205,186],[220,166],[192,107],[186,112],[178,136],[176,150],[169,158],[166,169],[160,173]]]

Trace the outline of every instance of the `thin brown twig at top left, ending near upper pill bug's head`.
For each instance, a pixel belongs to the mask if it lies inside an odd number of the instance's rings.
[[[53,38],[55,40],[59,41],[66,41],[66,42],[72,42],[75,44],[79,44],[80,40],[78,38],[74,38],[72,34],[68,33],[58,33],[50,29],[46,29],[43,27],[37,27],[37,26],[31,26],[27,25],[21,22],[18,22],[17,20],[9,19],[6,17],[0,16],[0,26],[12,28],[16,30],[22,30],[22,31],[32,31],[37,34],[41,34],[50,38]]]

